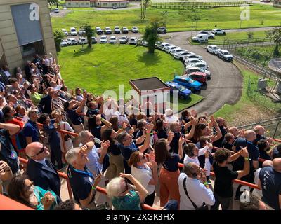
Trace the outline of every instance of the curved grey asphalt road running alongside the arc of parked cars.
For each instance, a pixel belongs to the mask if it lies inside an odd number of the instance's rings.
[[[112,27],[113,28],[113,27]],[[262,27],[262,28],[251,28],[251,31],[258,30],[268,30],[273,29],[272,27]],[[230,29],[226,32],[233,31],[247,31],[249,29]],[[209,71],[211,71],[211,80],[207,84],[207,88],[201,90],[200,95],[204,96],[205,99],[202,102],[192,106],[191,109],[195,109],[198,113],[208,114],[215,113],[224,104],[235,104],[241,97],[242,94],[242,76],[239,69],[230,62],[224,62],[222,59],[216,57],[215,55],[209,54],[202,46],[200,45],[190,45],[187,39],[195,35],[195,32],[185,31],[185,32],[174,32],[164,34],[165,36],[171,36],[169,39],[164,41],[167,43],[172,43],[178,45],[179,47],[186,49],[190,52],[195,52],[197,55],[201,55],[203,59],[209,65]],[[141,34],[133,34],[129,31],[129,34],[112,34],[107,35],[107,39],[110,36],[116,36],[119,39],[120,36],[126,35],[128,37],[136,36],[137,38],[141,37]],[[101,35],[98,35],[98,42]],[[75,38],[78,38],[76,36]],[[171,56],[171,59],[173,57]]]

